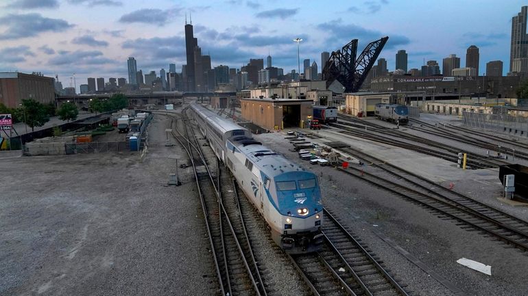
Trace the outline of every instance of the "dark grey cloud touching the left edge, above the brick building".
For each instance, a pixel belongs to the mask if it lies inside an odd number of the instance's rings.
[[[38,36],[43,32],[62,32],[74,25],[58,18],[45,18],[40,14],[8,14],[0,17],[8,29],[0,33],[0,40]]]

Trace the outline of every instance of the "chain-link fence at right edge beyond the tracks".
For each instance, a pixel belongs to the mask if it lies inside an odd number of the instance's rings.
[[[464,125],[467,126],[528,137],[528,118],[511,116],[505,112],[496,114],[462,112],[462,119],[464,120]]]

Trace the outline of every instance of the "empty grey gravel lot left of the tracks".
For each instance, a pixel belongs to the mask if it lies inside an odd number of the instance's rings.
[[[195,184],[165,186],[184,158],[166,124],[149,126],[144,159],[0,158],[0,295],[215,293]]]

